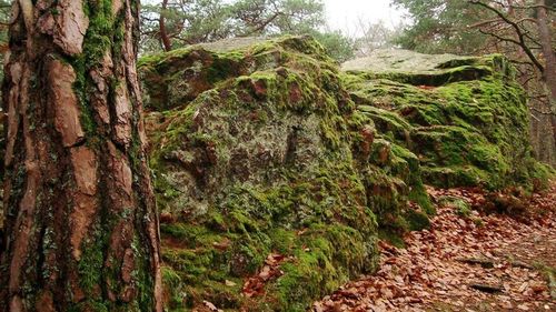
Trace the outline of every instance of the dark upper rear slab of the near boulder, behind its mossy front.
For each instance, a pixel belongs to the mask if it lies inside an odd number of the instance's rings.
[[[237,38],[141,58],[138,66],[146,108],[160,111],[183,105],[219,82],[278,68],[299,53],[311,54],[310,62],[328,61],[316,42],[290,40],[280,49],[268,44],[261,38]],[[288,48],[294,50],[285,53]]]

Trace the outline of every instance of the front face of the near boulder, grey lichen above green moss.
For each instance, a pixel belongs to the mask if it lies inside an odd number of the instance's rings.
[[[162,258],[188,285],[185,305],[210,299],[230,309],[302,310],[376,268],[377,221],[346,125],[355,105],[326,59],[296,50],[318,46],[301,43],[241,50],[235,61],[258,70],[212,83],[186,108],[165,112],[163,129],[150,134],[157,197],[178,219],[161,227]],[[179,62],[192,51],[165,58]],[[170,69],[168,59],[142,64]],[[247,300],[221,286],[257,274],[271,252],[295,260],[265,296]]]

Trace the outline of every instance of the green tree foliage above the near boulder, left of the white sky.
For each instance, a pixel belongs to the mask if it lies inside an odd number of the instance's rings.
[[[317,0],[169,0],[142,8],[146,51],[160,41],[159,17],[165,17],[172,48],[247,36],[304,34],[315,32],[324,21],[324,6]]]

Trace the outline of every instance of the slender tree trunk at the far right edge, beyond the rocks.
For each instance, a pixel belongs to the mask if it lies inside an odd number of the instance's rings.
[[[548,92],[550,94],[550,108],[553,112],[550,121],[553,125],[554,141],[556,142],[556,56],[554,54],[552,46],[552,33],[548,24],[549,21],[546,10],[546,0],[537,0],[538,33],[546,62],[543,78],[546,82],[546,85],[548,87]]]

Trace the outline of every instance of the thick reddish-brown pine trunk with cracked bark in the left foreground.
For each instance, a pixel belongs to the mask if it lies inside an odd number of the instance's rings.
[[[162,311],[138,0],[18,0],[0,311]]]

